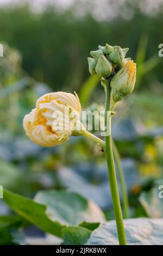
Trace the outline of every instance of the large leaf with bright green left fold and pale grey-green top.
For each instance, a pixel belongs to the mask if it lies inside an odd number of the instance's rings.
[[[93,229],[98,225],[95,222],[105,220],[96,204],[70,191],[41,191],[36,194],[36,202],[8,190],[4,190],[3,197],[4,202],[18,215],[58,237],[62,236],[61,229],[65,225],[77,225],[85,221],[92,222],[87,227]]]

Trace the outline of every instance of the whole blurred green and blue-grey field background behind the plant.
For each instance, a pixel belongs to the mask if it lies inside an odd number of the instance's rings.
[[[68,188],[113,218],[101,148],[83,137],[42,148],[26,136],[22,119],[39,96],[57,90],[75,90],[83,109],[103,109],[104,90],[87,57],[98,45],[120,45],[137,63],[134,93],[118,103],[112,124],[130,217],[163,217],[162,29],[162,0],[1,0],[0,184],[27,197]],[[121,194],[118,173],[117,179]],[[1,200],[0,214],[9,213]]]

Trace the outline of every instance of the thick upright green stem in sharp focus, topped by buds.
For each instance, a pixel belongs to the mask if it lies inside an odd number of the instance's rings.
[[[112,143],[111,143],[110,84],[108,84],[108,86],[105,87],[105,93],[106,93],[105,126],[107,127],[109,126],[109,129],[106,129],[108,130],[108,132],[106,131],[104,152],[105,152],[106,161],[108,164],[110,190],[111,190],[112,203],[114,207],[114,214],[115,214],[116,225],[117,225],[118,240],[120,245],[126,245],[126,235],[125,235],[124,224],[123,224],[120,197],[118,194],[114,156],[112,152]]]

